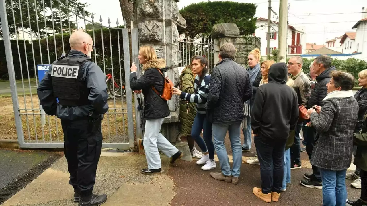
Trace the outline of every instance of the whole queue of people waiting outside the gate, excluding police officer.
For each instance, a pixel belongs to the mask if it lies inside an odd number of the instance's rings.
[[[210,176],[237,184],[242,152],[250,151],[253,134],[257,158],[247,163],[260,165],[261,187],[254,187],[253,193],[265,202],[279,200],[280,192],[286,191],[291,181],[291,169],[302,168],[301,152],[307,152],[312,173],[304,174],[300,183],[322,189],[323,205],[367,204],[366,186],[361,184],[367,177],[367,129],[363,124],[367,70],[359,73],[362,88],[353,95],[354,77],[336,70],[327,55],[318,56],[307,74],[300,56],[293,56],[287,63],[259,62],[260,51],[254,49],[248,54],[249,67],[245,69],[235,62],[235,55],[233,44],[222,45],[219,62],[210,74],[206,56],[194,56],[183,69],[178,86],[172,87],[181,99],[179,130],[187,139],[192,157],[199,159],[197,165],[202,165],[203,170],[214,169],[216,152],[221,172],[211,172]],[[155,122],[145,127],[143,143],[148,168],[142,173],[156,174],[161,167],[158,148],[172,157],[171,162],[182,157],[182,153],[159,133],[163,118],[169,115],[167,102],[150,89],[153,85],[163,92],[164,77],[159,70],[165,71],[164,60],[157,59],[152,47],[142,47],[139,60],[145,73],[137,79],[136,67],[131,67],[131,88],[137,93],[142,89],[146,96],[145,119]],[[162,64],[152,64],[157,61]],[[232,169],[224,146],[227,132]],[[346,174],[353,154],[356,171]],[[347,200],[345,178],[355,180],[353,187],[362,188],[357,201]]]

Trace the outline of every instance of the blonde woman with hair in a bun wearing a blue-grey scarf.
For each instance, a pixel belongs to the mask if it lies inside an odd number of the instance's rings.
[[[261,71],[260,71],[260,50],[258,48],[252,50],[248,54],[248,74],[250,77],[250,82],[252,85],[252,98],[251,100],[248,100],[244,103],[244,115],[245,118],[242,122],[242,132],[244,136],[242,151],[250,151],[251,149],[251,111],[252,111],[252,105],[254,104],[255,94],[257,91],[257,88],[260,85],[261,81]]]

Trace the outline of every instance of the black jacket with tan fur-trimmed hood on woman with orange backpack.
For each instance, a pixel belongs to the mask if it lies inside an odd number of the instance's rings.
[[[160,119],[168,117],[170,110],[167,101],[160,98],[152,89],[152,86],[160,93],[163,91],[164,78],[162,72],[167,71],[166,62],[164,59],[149,60],[143,66],[144,74],[139,79],[137,74],[130,74],[130,87],[132,90],[143,90],[144,95],[144,119]]]

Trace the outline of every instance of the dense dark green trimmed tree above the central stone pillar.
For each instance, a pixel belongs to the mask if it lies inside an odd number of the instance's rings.
[[[179,12],[186,19],[186,29],[179,30],[180,34],[201,37],[210,36],[215,23],[235,23],[240,35],[255,32],[257,6],[251,3],[232,1],[208,1],[190,4]],[[225,12],[224,12],[225,11]]]

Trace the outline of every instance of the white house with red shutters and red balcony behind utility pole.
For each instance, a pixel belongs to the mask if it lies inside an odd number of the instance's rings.
[[[274,22],[274,23],[273,23]],[[256,27],[254,36],[261,38],[261,56],[263,58],[268,54],[268,52],[272,52],[274,49],[278,48],[278,22],[273,21],[271,23],[273,28],[270,28],[270,48],[266,48],[267,45],[267,36],[266,33],[268,31],[268,19],[258,18],[256,21]],[[294,26],[288,25],[287,32],[287,44],[288,44],[288,52],[287,54],[304,54],[305,46],[306,46],[306,34],[304,32],[304,28],[296,29]]]

